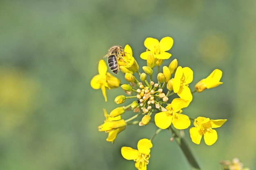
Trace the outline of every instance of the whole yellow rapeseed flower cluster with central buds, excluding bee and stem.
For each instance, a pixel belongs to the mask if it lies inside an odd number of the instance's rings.
[[[99,131],[108,133],[107,141],[114,143],[118,133],[124,131],[128,125],[145,126],[152,122],[159,130],[170,130],[172,127],[181,130],[189,128],[193,121],[194,127],[189,130],[192,142],[200,144],[204,136],[204,142],[207,145],[214,144],[218,138],[214,128],[222,126],[226,119],[211,120],[201,116],[191,118],[184,114],[182,109],[190,105],[194,93],[222,84],[220,82],[222,71],[213,70],[207,78],[196,83],[195,89],[191,92],[189,87],[193,81],[191,68],[179,66],[177,59],[173,59],[168,66],[162,66],[163,61],[171,57],[167,52],[173,46],[171,37],[164,37],[160,41],[148,37],[144,41],[144,46],[146,52],[140,54],[141,59],[146,60],[142,73],[139,72],[139,65],[132,56],[132,48],[129,45],[126,45],[124,51],[117,55],[118,66],[124,73],[127,83],[121,84],[119,78],[107,72],[106,63],[103,60],[99,61],[99,74],[92,78],[92,88],[101,88],[107,101],[106,89],[120,86],[125,94],[117,96],[115,103],[121,105],[130,101],[125,106],[116,107],[110,114],[104,109],[106,120],[98,127]],[[132,117],[126,120],[121,119],[121,115],[128,111],[134,112]],[[154,137],[155,135],[151,139],[140,139],[137,145],[138,150],[122,147],[122,156],[125,159],[134,160],[137,169],[146,170]]]

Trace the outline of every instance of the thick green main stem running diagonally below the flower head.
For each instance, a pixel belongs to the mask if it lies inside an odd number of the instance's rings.
[[[173,126],[169,126],[168,129],[173,134],[175,141],[180,146],[186,159],[189,161],[192,170],[200,170],[200,167],[197,161],[195,160],[195,157],[193,156],[188,144],[186,144],[185,139],[177,132],[177,130]]]

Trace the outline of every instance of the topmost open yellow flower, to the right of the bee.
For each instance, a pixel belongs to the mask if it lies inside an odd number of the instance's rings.
[[[155,38],[148,37],[144,41],[144,46],[147,50],[140,54],[141,59],[148,59],[150,53],[154,55],[155,59],[169,59],[171,54],[166,51],[172,48],[173,39],[171,37],[164,37],[159,42]]]

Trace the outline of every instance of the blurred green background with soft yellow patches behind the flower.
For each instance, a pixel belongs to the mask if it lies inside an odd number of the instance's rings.
[[[212,146],[194,144],[185,130],[202,169],[234,157],[256,169],[255,9],[250,0],[1,1],[0,169],[135,169],[120,148],[136,148],[156,126],[128,126],[114,145],[106,142],[97,130],[103,108],[117,107],[123,92],[107,90],[106,103],[90,80],[110,46],[129,44],[142,66],[146,37],[166,36],[174,39],[171,59],[194,72],[191,89],[215,68],[223,71],[223,85],[195,94],[183,110],[228,120]],[[148,169],[189,169],[170,137],[162,131],[153,140]]]

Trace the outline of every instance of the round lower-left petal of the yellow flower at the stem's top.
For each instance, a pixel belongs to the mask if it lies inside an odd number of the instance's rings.
[[[162,111],[155,114],[155,125],[161,129],[166,129],[171,125],[173,116],[166,114],[167,111]]]

